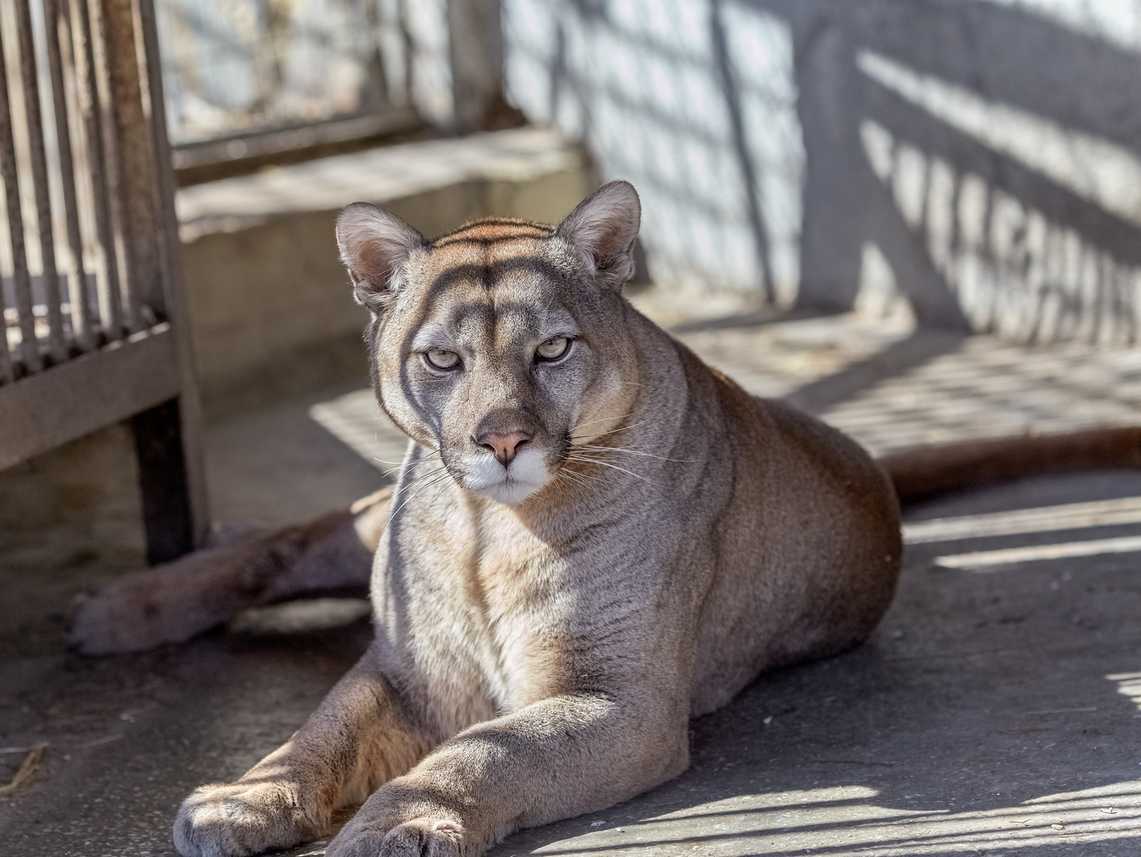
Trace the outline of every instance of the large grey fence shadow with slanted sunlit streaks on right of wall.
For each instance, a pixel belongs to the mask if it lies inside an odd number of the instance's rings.
[[[850,309],[874,245],[923,324],[1136,341],[1141,54],[990,2],[741,5],[793,35],[800,308]]]

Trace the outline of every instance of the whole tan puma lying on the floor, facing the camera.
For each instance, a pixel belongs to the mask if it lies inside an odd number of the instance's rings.
[[[282,747],[186,799],[183,855],[290,847],[356,805],[330,857],[478,855],[677,776],[690,718],[876,625],[888,474],[955,487],[963,451],[881,467],[704,365],[622,297],[639,219],[624,181],[557,227],[428,241],[341,213],[377,397],[412,440],[395,491],[123,579],[72,626],[92,654],[186,639],[359,582],[374,551],[371,648]],[[1138,458],[1135,432],[1066,443]]]

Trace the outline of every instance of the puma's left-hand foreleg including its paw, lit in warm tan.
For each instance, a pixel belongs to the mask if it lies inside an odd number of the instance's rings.
[[[184,857],[254,855],[316,839],[431,747],[366,654],[293,736],[236,783],[204,785],[178,810]]]

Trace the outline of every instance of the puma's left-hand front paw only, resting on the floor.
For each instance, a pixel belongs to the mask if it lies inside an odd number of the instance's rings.
[[[248,857],[316,839],[323,828],[293,785],[204,785],[178,810],[175,847],[183,857]]]

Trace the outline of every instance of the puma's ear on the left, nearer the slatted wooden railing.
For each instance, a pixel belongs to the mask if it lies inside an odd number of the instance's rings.
[[[357,304],[377,313],[400,288],[400,265],[428,242],[396,215],[367,202],[354,202],[337,218],[337,245],[353,278]]]

